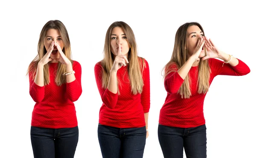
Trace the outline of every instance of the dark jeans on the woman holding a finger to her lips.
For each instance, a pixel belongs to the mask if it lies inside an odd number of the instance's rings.
[[[146,143],[146,127],[116,128],[98,126],[103,158],[142,158]]]

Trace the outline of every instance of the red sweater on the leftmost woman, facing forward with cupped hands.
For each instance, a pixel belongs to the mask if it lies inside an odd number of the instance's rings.
[[[49,63],[50,83],[38,86],[29,74],[29,93],[36,102],[32,112],[31,126],[44,128],[71,128],[77,126],[76,109],[77,101],[82,93],[81,65],[73,61],[73,70],[76,80],[57,86],[55,76],[58,63]]]

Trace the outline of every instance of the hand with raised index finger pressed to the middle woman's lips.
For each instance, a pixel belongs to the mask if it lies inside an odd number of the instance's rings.
[[[117,72],[117,70],[119,70],[122,66],[126,66],[125,61],[126,63],[129,63],[127,57],[125,55],[121,55],[121,45],[119,44],[118,55],[116,56],[110,71]]]

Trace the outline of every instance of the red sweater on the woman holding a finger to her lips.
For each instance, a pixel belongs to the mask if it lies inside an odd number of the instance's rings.
[[[128,77],[128,66],[122,66],[117,71],[119,78],[119,92],[114,94],[108,88],[102,88],[102,65],[96,63],[94,67],[96,83],[99,94],[102,98],[102,106],[99,110],[99,123],[106,126],[118,128],[133,128],[145,126],[144,113],[149,111],[150,107],[150,82],[148,62],[145,61],[143,70],[143,92],[133,95]]]

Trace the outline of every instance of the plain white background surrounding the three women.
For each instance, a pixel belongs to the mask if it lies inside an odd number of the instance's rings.
[[[211,1],[8,1],[0,2],[0,158],[32,158],[30,123],[35,102],[29,95],[27,67],[37,55],[42,27],[61,20],[70,36],[73,60],[82,66],[82,95],[75,102],[79,143],[75,158],[100,158],[97,137],[102,104],[94,65],[103,57],[105,34],[117,20],[134,31],[139,56],[151,74],[149,137],[144,158],[163,158],[157,138],[160,108],[166,98],[163,66],[170,60],[175,33],[199,22],[218,48],[243,60],[245,76],[217,76],[204,102],[208,158],[255,158],[255,5]],[[184,157],[186,157],[184,155]]]

